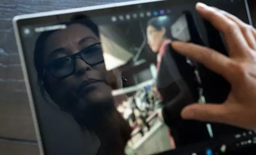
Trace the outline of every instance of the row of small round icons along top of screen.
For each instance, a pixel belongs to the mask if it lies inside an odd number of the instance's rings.
[[[140,12],[140,13],[128,13],[126,15],[117,15],[117,16],[112,16],[111,21],[116,22],[116,21],[130,20],[130,19],[138,19],[138,18],[151,17],[151,16],[157,16],[157,15],[165,15],[166,13],[171,13],[171,10],[161,9],[159,11],[146,11],[146,12]]]

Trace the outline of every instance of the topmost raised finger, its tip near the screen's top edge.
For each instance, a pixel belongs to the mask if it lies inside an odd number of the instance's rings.
[[[249,45],[239,26],[234,21],[220,13],[217,9],[202,3],[197,3],[196,9],[204,19],[208,20],[217,30],[223,33],[231,57],[245,55],[245,49],[248,49]]]

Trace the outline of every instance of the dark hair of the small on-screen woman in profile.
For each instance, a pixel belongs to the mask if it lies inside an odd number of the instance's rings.
[[[165,37],[171,36],[171,20],[167,15],[154,17],[147,22],[147,26],[153,26],[156,30],[160,31],[162,28],[166,29]]]

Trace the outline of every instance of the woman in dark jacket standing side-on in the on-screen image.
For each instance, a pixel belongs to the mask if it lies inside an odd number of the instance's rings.
[[[186,146],[209,139],[206,123],[180,117],[182,108],[198,102],[198,82],[186,57],[171,47],[171,19],[155,17],[147,24],[147,43],[157,54],[157,91],[163,100],[163,118],[170,127],[171,145]]]

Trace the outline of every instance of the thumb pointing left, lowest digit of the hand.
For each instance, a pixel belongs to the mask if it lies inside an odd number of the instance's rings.
[[[222,123],[225,122],[227,113],[225,104],[191,104],[182,110],[181,117]]]

